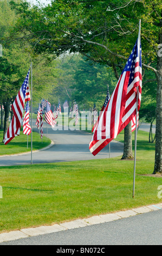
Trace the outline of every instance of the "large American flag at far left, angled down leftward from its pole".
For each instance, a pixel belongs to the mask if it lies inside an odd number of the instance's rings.
[[[22,84],[22,87],[20,88],[16,96],[14,103],[12,104],[12,111],[14,112],[14,115],[12,117],[7,133],[5,134],[5,137],[4,137],[5,145],[7,145],[15,136],[20,135],[25,96],[27,93],[27,86],[28,86],[28,77],[29,76],[27,75],[27,77],[25,78]]]

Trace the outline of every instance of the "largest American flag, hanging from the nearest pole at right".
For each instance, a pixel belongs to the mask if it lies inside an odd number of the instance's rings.
[[[129,56],[124,70],[89,143],[89,150],[96,155],[124,129],[138,111],[141,101],[142,60],[140,36]],[[138,90],[137,90],[138,87]],[[138,95],[137,95],[138,91]]]

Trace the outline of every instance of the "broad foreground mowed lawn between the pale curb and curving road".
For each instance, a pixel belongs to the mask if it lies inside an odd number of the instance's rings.
[[[123,133],[118,138],[123,141]],[[153,173],[154,144],[138,132],[135,198],[134,161],[104,160],[0,167],[0,232],[50,225],[161,203],[161,176]]]

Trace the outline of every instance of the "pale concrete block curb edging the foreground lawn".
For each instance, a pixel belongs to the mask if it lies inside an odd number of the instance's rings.
[[[36,228],[24,228],[21,230],[10,231],[8,233],[0,234],[0,243],[27,238],[30,236],[44,235],[44,234],[54,233],[62,230],[81,228],[81,227],[86,227],[88,225],[115,221],[121,218],[127,218],[131,216],[135,216],[137,214],[144,214],[146,212],[157,211],[160,209],[162,209],[162,203],[134,208],[132,210],[119,211],[119,212],[115,212],[114,214],[92,216],[89,218],[74,220],[70,222],[63,222],[60,224],[54,224],[49,226],[43,225],[41,227],[36,227]]]

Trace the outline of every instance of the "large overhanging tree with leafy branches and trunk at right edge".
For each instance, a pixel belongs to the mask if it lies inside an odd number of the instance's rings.
[[[143,71],[150,69],[157,81],[154,173],[162,173],[162,3],[158,0],[69,1],[55,0],[45,8],[12,6],[22,13],[17,32],[37,52],[54,56],[69,50],[95,62],[112,66],[116,76],[137,39],[141,19]],[[17,35],[16,35],[17,37]],[[159,51],[158,51],[159,50]]]

